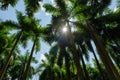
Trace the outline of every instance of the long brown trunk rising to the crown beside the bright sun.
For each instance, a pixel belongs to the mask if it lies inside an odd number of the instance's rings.
[[[72,33],[71,33],[71,28],[70,28],[70,25],[69,23],[67,23],[68,25],[68,40],[69,40],[69,43],[71,46],[69,46],[69,48],[71,49],[72,51],[72,55],[73,55],[73,59],[74,59],[74,63],[76,65],[76,68],[77,68],[77,77],[78,77],[78,80],[84,80],[84,74],[83,74],[83,69],[80,65],[80,57],[78,55],[78,51],[75,47],[75,43],[74,43],[74,40],[73,40],[73,36],[72,36]]]

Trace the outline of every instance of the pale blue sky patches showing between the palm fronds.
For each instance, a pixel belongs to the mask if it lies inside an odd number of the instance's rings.
[[[116,0],[112,0],[111,6],[110,6],[110,8],[113,10],[116,9],[116,5],[117,5],[117,3],[115,1]],[[53,0],[43,0],[43,3],[53,3]],[[43,5],[43,4],[41,4],[41,5]],[[10,20],[17,22],[17,18],[16,18],[16,14],[15,14],[16,10],[25,13],[25,6],[24,6],[23,0],[19,0],[19,2],[17,3],[17,5],[14,8],[9,6],[8,9],[5,11],[0,10],[0,19],[2,19],[3,21],[10,19]],[[43,8],[41,8],[41,10],[39,10],[37,13],[35,13],[35,17],[36,17],[36,19],[41,19],[40,24],[42,26],[45,26],[46,24],[49,24],[51,22],[51,15],[45,13],[45,9],[43,9]],[[33,43],[31,41],[29,41],[29,44],[28,44],[29,47],[27,47],[27,49],[30,50],[32,47],[32,44]],[[26,49],[24,50],[22,48],[22,46],[20,46],[20,49],[21,49],[22,53],[25,53]],[[36,57],[36,59],[39,62],[41,62],[42,59],[45,59],[43,54],[48,52],[49,49],[50,49],[50,46],[41,40],[41,51],[34,54],[34,57]],[[36,65],[34,65],[34,66],[37,67]],[[37,80],[37,79],[34,77],[33,80]]]

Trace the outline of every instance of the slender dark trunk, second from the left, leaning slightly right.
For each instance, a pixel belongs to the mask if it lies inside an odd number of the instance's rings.
[[[35,38],[33,46],[32,46],[32,49],[31,49],[30,57],[29,57],[29,60],[28,60],[28,63],[27,63],[26,69],[25,69],[25,72],[24,72],[23,77],[22,77],[21,80],[26,80],[27,79],[27,75],[28,75],[29,68],[30,68],[30,63],[31,63],[32,56],[33,56],[33,53],[34,53],[34,48],[35,48],[36,40],[37,39]]]

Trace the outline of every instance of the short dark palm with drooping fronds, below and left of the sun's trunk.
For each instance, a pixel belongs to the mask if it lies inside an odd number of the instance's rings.
[[[70,56],[67,53],[66,47],[63,46],[61,43],[57,43],[56,45],[54,45],[51,49],[50,49],[50,54],[52,56],[51,58],[51,62],[54,64],[56,62],[56,57],[57,57],[57,64],[59,65],[60,68],[62,68],[63,63],[63,59],[65,58],[65,70],[66,70],[66,80],[71,79],[70,77]],[[60,50],[60,51],[58,51]]]

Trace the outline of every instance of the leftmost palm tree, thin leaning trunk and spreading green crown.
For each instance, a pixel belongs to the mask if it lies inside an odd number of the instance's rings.
[[[18,29],[18,33],[17,33],[17,36],[15,37],[15,42],[13,44],[13,47],[8,55],[8,58],[2,68],[2,71],[1,71],[1,74],[0,74],[0,79],[2,79],[5,71],[6,71],[6,68],[9,64],[9,61],[10,61],[10,57],[12,56],[13,54],[13,51],[14,49],[16,48],[20,38],[22,37],[22,34],[24,33],[27,33],[27,35],[29,34],[29,36],[27,36],[26,38],[29,38],[31,37],[32,35],[32,30],[33,29],[33,23],[32,23],[32,18],[29,18],[28,16],[23,16],[21,12],[17,12],[17,18],[18,18],[18,22],[19,23],[16,23],[16,22],[13,22],[13,21],[6,21],[6,22],[3,22],[3,24],[5,26],[11,26],[11,27],[15,27],[16,29]],[[29,27],[29,28],[28,28]]]

